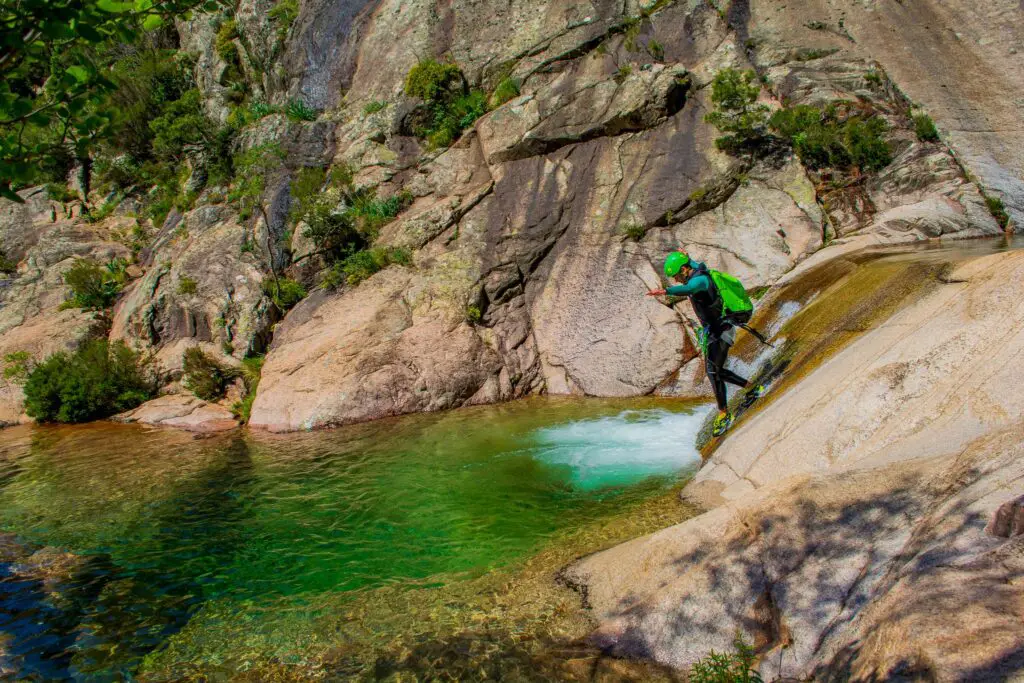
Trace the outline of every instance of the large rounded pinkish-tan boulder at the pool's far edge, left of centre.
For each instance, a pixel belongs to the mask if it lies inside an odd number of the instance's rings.
[[[439,298],[400,267],[310,296],[274,334],[250,426],[313,429],[469,401],[498,358],[464,309]]]

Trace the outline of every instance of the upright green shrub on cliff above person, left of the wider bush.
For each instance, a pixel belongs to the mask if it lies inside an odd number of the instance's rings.
[[[758,104],[761,84],[753,70],[723,69],[712,82],[712,102],[716,111],[705,117],[723,133],[715,140],[719,150],[730,153],[751,151],[766,134],[768,106]]]

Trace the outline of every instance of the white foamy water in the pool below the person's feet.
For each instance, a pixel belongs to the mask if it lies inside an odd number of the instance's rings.
[[[677,474],[700,463],[694,442],[707,414],[663,409],[624,411],[538,429],[532,455],[571,469],[572,483],[584,489],[629,484],[652,475]]]

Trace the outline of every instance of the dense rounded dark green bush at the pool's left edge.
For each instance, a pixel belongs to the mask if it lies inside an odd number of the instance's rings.
[[[29,373],[25,412],[40,422],[88,422],[131,410],[156,389],[148,364],[124,342],[94,340]]]

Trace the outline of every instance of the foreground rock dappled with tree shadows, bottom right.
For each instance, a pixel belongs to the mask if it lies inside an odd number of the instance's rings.
[[[1015,425],[958,454],[793,477],[579,561],[595,639],[684,669],[753,639],[765,680],[1007,680],[1024,547],[985,522],[1024,485]]]

